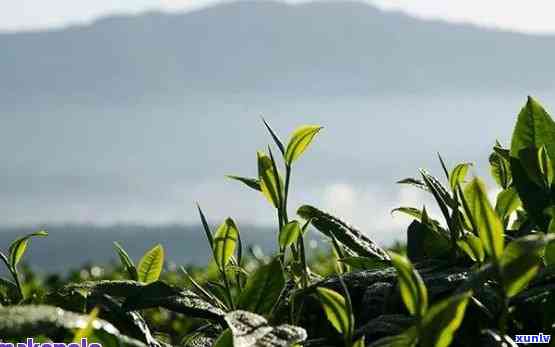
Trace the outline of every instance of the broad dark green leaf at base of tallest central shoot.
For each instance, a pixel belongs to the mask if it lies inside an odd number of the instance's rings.
[[[285,279],[278,258],[259,267],[248,280],[239,298],[238,307],[258,314],[267,314],[272,310]]]

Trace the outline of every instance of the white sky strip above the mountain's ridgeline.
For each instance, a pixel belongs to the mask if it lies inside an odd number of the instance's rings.
[[[198,8],[218,0],[4,0],[0,30],[42,29],[82,23],[111,13]],[[299,2],[293,0],[292,2]],[[472,22],[526,32],[555,32],[552,0],[370,0],[425,18]]]

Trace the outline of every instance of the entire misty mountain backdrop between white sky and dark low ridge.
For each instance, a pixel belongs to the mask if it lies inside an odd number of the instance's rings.
[[[394,182],[437,151],[486,174],[527,94],[555,104],[555,37],[424,21],[357,2],[222,4],[0,34],[0,224],[195,223],[199,200],[268,224],[224,179],[255,151],[325,126],[295,167],[292,213],[312,203],[378,241],[389,210],[422,204]]]

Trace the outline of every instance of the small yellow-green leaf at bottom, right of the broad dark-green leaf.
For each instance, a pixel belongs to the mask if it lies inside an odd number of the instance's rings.
[[[350,322],[354,318],[349,317],[349,309],[345,298],[328,288],[316,288],[318,299],[324,309],[328,321],[343,335],[350,333]]]

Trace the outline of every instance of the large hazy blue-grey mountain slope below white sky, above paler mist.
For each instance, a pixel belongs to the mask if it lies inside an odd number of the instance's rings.
[[[555,38],[423,21],[358,2],[245,1],[0,35],[0,100],[367,95],[547,88]],[[6,104],[7,103],[7,104]]]

